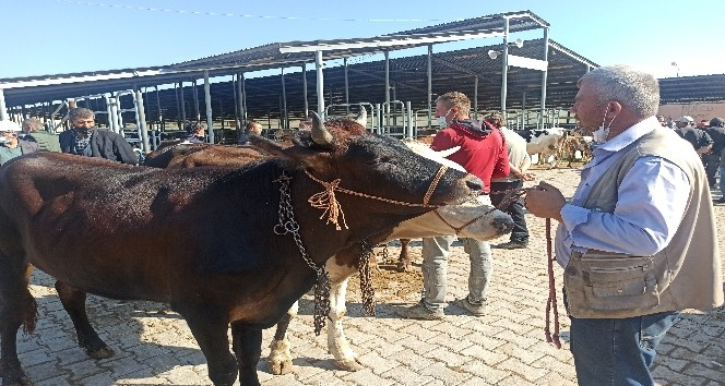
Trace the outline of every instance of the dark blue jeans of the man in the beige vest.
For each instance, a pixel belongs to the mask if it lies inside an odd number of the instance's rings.
[[[655,349],[679,312],[621,319],[571,318],[571,353],[580,386],[653,385]]]

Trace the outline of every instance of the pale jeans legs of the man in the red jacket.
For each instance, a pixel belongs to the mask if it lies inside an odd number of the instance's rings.
[[[421,301],[428,310],[443,310],[445,302],[448,255],[454,236],[423,239],[423,293]],[[483,304],[486,288],[494,273],[491,248],[488,242],[475,239],[461,239],[468,253],[468,302]]]

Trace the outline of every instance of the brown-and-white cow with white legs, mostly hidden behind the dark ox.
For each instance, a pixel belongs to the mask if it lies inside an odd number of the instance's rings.
[[[420,142],[405,141],[404,143],[416,154],[463,170],[457,164],[443,158],[447,154],[442,154],[442,152],[437,154]],[[229,146],[179,144],[175,148],[168,149],[168,152],[159,149],[156,153],[152,153],[146,158],[146,165],[150,165],[150,161],[151,165],[169,168],[209,166],[222,162],[228,165],[231,161],[243,165],[258,159],[257,155],[246,158],[249,152],[253,150],[247,149],[247,152],[240,153],[238,148]],[[261,152],[263,150],[260,149],[260,155]],[[175,157],[159,157],[168,153],[175,154]],[[211,155],[215,157],[211,157]],[[185,159],[187,158],[192,158],[193,161],[186,161]],[[165,162],[161,162],[159,160],[162,159]],[[335,363],[340,369],[348,371],[361,369],[357,354],[350,348],[345,337],[342,321],[346,312],[345,295],[347,281],[353,275],[359,272],[360,256],[369,253],[369,251],[366,251],[366,245],[369,248],[380,242],[388,242],[401,237],[421,238],[452,233],[457,233],[460,237],[465,238],[490,240],[511,231],[512,220],[509,215],[496,210],[490,205],[482,205],[475,198],[462,205],[447,205],[435,210],[436,213],[429,212],[416,218],[405,220],[396,227],[391,228],[388,232],[381,232],[365,240],[364,243],[352,244],[337,252],[334,258],[326,262],[325,269],[330,273],[331,284],[329,317],[332,322],[328,326],[328,349],[335,358]],[[362,289],[362,292],[366,292],[365,289]],[[366,306],[370,309],[373,306],[372,301],[369,298],[364,300],[364,302],[368,303]],[[284,374],[292,371],[292,353],[289,351],[289,342],[286,339],[286,330],[292,317],[296,314],[297,304],[277,324],[277,330],[274,341],[271,345],[272,350],[269,357],[270,370],[274,374]]]

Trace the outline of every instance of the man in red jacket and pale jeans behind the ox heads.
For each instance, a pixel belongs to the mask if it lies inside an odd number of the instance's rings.
[[[471,99],[462,93],[447,93],[436,99],[436,118],[441,126],[431,147],[445,150],[461,149],[448,158],[461,165],[467,172],[484,181],[484,194],[479,201],[490,205],[491,178],[509,174],[509,156],[501,132],[484,122],[468,118]],[[414,306],[397,310],[397,315],[416,319],[442,319],[445,307],[445,273],[448,255],[454,236],[423,239],[423,293]],[[463,239],[464,250],[471,260],[468,295],[455,304],[475,316],[484,315],[486,287],[491,278],[491,250],[487,242]]]

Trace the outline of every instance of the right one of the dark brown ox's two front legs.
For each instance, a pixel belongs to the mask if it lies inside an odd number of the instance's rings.
[[[252,329],[241,322],[231,323],[234,353],[239,364],[239,384],[258,386],[257,363],[262,355],[262,330]]]

